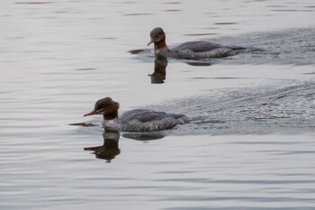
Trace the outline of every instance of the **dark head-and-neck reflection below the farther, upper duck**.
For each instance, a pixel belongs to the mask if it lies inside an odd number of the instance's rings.
[[[148,74],[148,77],[151,78],[152,84],[163,84],[166,79],[166,66],[167,59],[165,58],[157,58],[154,61],[154,72],[152,74]]]

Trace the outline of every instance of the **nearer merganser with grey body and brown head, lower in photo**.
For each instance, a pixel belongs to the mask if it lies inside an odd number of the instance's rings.
[[[188,117],[183,114],[167,114],[146,109],[135,109],[118,117],[119,104],[111,97],[98,100],[94,110],[84,116],[103,114],[103,126],[106,131],[156,132],[173,128],[176,124],[186,123]]]

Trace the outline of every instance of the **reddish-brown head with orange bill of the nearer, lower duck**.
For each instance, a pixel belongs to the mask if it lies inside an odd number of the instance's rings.
[[[83,116],[103,114],[104,120],[112,120],[118,116],[119,104],[112,101],[111,97],[104,97],[98,100],[94,105],[94,110]]]

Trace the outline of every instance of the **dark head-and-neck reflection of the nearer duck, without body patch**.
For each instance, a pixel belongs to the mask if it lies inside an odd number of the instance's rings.
[[[120,137],[119,132],[103,132],[103,145],[98,147],[86,147],[85,151],[94,151],[93,154],[96,159],[111,162],[112,159],[121,153],[118,147]]]

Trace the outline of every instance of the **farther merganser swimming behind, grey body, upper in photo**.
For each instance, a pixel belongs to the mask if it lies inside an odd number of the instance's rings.
[[[151,40],[148,45],[154,43],[154,50],[157,57],[174,59],[209,59],[222,58],[236,55],[246,49],[238,46],[224,46],[209,41],[188,41],[180,44],[172,50],[166,46],[166,34],[162,28],[155,28],[150,32]]]

